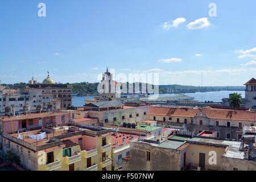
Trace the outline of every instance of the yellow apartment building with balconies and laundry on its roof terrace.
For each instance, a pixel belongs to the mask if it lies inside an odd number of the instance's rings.
[[[23,133],[2,133],[2,151],[13,151],[20,165],[32,171],[112,170],[109,129],[42,127]]]

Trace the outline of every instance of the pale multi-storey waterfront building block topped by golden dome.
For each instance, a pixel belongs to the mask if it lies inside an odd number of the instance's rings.
[[[72,89],[56,84],[49,75],[39,84],[34,78],[30,85],[18,89],[2,89],[0,113],[23,114],[38,110],[61,110],[72,106]]]

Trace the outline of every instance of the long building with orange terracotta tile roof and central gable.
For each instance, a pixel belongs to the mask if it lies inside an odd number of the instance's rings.
[[[217,131],[220,139],[239,140],[243,126],[256,125],[256,112],[212,107],[150,106],[149,118],[160,125],[183,126],[196,134]]]

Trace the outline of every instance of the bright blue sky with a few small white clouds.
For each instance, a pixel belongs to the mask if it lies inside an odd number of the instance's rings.
[[[40,2],[46,17],[38,16]],[[216,17],[208,14],[212,2]],[[203,72],[205,86],[242,85],[256,77],[255,7],[254,0],[1,1],[0,80],[27,82],[34,72],[40,82],[49,71],[56,82],[94,82],[109,67],[159,73],[160,84],[201,85]]]

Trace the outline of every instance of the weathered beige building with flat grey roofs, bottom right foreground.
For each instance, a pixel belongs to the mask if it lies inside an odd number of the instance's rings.
[[[123,159],[125,170],[256,170],[255,140],[249,143],[192,136],[192,132],[178,131],[162,141],[132,142],[129,158]]]

